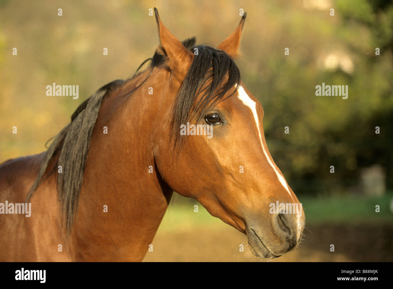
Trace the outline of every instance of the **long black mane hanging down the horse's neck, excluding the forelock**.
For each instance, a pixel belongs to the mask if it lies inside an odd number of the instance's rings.
[[[76,212],[90,139],[101,103],[109,92],[123,83],[123,80],[112,81],[99,88],[90,98],[79,105],[71,116],[71,123],[55,136],[46,151],[38,175],[28,191],[26,202],[38,186],[48,179],[58,166],[62,166],[62,173],[57,174],[57,191],[62,213],[66,216],[67,233],[70,232],[73,215]],[[47,171],[48,169],[49,171]]]

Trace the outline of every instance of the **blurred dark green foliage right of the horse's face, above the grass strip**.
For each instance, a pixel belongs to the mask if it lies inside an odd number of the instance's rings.
[[[314,18],[318,11],[307,16],[312,25],[290,14],[294,19],[287,23],[296,26],[288,28],[282,46],[290,55],[270,51],[259,60],[261,77],[246,72],[243,79],[264,107],[269,150],[295,192],[355,190],[360,169],[373,164],[384,166],[392,188],[393,4],[335,4],[334,17],[326,11],[320,18]],[[339,64],[326,67],[327,55]],[[348,85],[348,99],[315,96],[322,83]]]

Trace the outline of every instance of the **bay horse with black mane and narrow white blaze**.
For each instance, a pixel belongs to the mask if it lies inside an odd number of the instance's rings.
[[[97,90],[47,151],[1,164],[0,202],[31,216],[0,207],[0,261],[141,261],[174,191],[246,234],[255,256],[299,244],[303,208],[271,210],[300,203],[233,60],[246,14],[212,48],[180,42],[154,12],[160,46],[145,71]],[[186,123],[213,135],[182,135]]]

